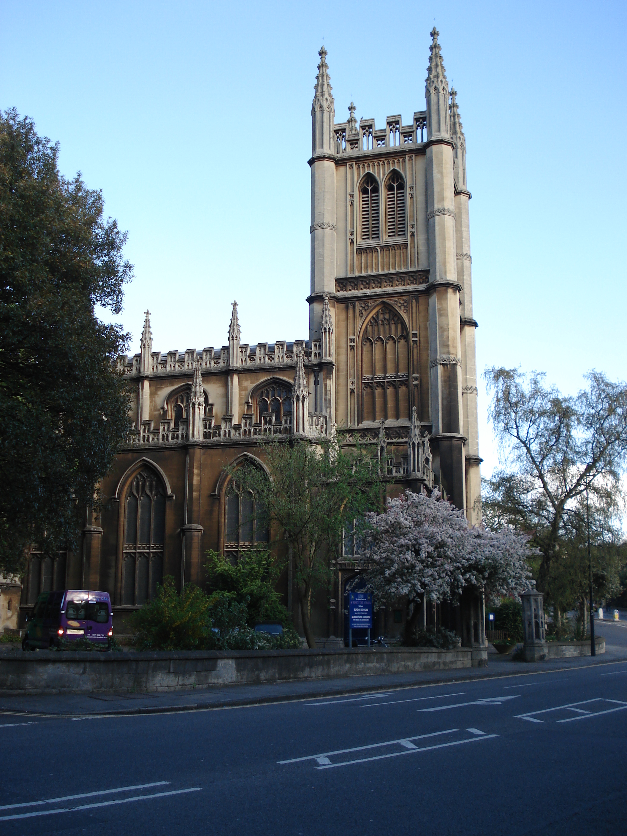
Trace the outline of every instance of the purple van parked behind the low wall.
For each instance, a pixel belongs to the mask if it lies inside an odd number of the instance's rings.
[[[27,621],[22,650],[51,648],[63,639],[88,639],[98,645],[109,645],[113,635],[108,592],[88,589],[43,592]]]

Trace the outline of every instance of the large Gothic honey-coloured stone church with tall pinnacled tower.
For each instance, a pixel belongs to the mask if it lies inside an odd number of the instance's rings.
[[[327,51],[311,109],[309,330],[293,343],[243,341],[232,304],[227,343],[161,354],[146,311],[140,353],[121,357],[135,392],[132,444],[101,484],[99,517],[75,553],[32,553],[22,608],[46,589],[103,589],[117,632],[164,575],[203,584],[208,549],[237,558],[268,541],[252,494],[225,466],[257,461],[263,439],[336,436],[372,445],[390,493],[440,486],[478,522],[481,480],[466,140],[431,32],[424,108],[336,122]],[[303,288],[304,289],[304,288]],[[254,303],[247,302],[247,304]],[[217,324],[216,324],[217,325]],[[227,323],[223,324],[226,331]],[[354,543],[312,605],[321,638],[344,634]],[[291,574],[281,579],[298,625]]]

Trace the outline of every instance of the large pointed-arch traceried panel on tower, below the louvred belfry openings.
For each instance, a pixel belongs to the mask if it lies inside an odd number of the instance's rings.
[[[387,305],[364,325],[360,372],[360,421],[410,418],[408,333],[403,318]]]

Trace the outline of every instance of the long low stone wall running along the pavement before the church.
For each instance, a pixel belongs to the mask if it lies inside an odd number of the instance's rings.
[[[0,693],[175,691],[217,685],[412,673],[481,665],[477,649],[217,650],[105,653],[18,650],[0,657]],[[486,652],[487,655],[487,652]]]

